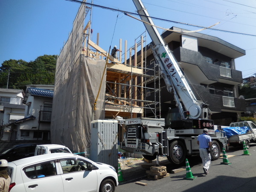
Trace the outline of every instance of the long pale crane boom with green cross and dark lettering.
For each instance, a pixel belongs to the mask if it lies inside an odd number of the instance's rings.
[[[160,66],[160,73],[166,83],[167,90],[169,92],[174,91],[175,101],[182,119],[185,119],[186,117],[183,113],[184,110],[179,98],[181,99],[186,111],[189,111],[189,117],[191,119],[207,119],[208,114],[206,115],[205,113],[208,112],[208,108],[205,108],[207,105],[197,101],[175,57],[172,55],[168,45],[165,44],[160,33],[157,31],[157,28],[154,26],[154,23],[149,17],[143,3],[141,0],[133,0],[133,2],[137,8],[137,12],[140,14],[141,20],[144,21],[145,28],[153,42],[151,49]],[[150,23],[150,25],[147,23]]]

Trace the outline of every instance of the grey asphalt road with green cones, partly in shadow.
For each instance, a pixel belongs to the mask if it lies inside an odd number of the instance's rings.
[[[230,165],[221,164],[222,158],[212,161],[208,175],[204,175],[201,158],[189,157],[189,166],[194,180],[186,180],[186,171],[171,174],[174,166],[165,163],[169,177],[159,180],[147,178],[146,170],[141,168],[136,172],[123,175],[124,182],[120,182],[116,192],[255,192],[256,191],[256,144],[250,144],[247,150],[251,155],[244,154],[240,147],[230,147],[226,151]],[[222,153],[221,153],[222,155]],[[185,163],[184,165],[185,166]],[[135,184],[135,182],[146,183],[146,186]]]

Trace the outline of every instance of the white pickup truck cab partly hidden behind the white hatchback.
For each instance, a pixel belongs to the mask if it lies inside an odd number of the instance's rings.
[[[35,148],[35,156],[49,153],[72,153],[69,148],[64,145],[45,144],[37,145]]]

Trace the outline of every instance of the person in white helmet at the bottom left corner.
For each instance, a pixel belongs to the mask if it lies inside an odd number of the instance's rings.
[[[8,162],[5,159],[0,160],[0,192],[8,192],[11,178],[7,173]]]

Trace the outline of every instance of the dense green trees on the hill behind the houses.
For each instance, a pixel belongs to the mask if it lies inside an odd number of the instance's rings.
[[[23,89],[28,84],[54,84],[57,55],[43,55],[35,61],[10,59],[0,67],[0,87]],[[8,77],[9,74],[9,77]]]

